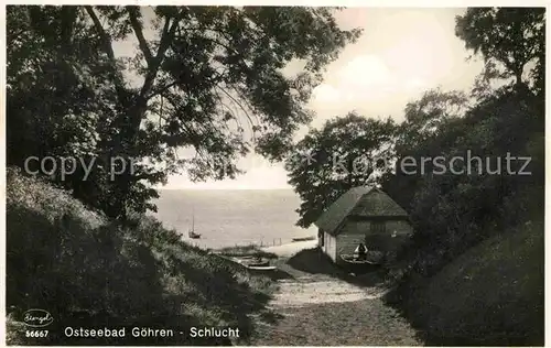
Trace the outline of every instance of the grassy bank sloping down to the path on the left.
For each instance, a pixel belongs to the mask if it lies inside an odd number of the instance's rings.
[[[183,330],[205,325],[239,327],[247,335],[255,330],[251,315],[264,312],[273,290],[268,278],[190,247],[152,218],[138,217],[131,228],[122,228],[67,193],[11,168],[7,198],[10,344],[34,344],[19,324],[29,308],[54,316],[50,344],[228,344],[185,336],[67,340],[62,333],[78,325]]]

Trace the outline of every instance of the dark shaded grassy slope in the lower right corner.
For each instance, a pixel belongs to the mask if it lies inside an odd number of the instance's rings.
[[[407,316],[430,345],[543,345],[543,224],[472,248],[411,281]]]

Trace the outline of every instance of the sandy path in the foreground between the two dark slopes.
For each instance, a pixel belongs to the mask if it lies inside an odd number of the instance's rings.
[[[288,264],[269,303],[278,314],[259,322],[255,346],[419,346],[415,331],[386,306],[378,286],[359,286],[327,274],[309,274]]]

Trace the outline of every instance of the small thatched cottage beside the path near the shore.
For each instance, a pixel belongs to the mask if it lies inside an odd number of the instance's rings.
[[[368,186],[350,188],[315,225],[318,247],[336,263],[342,263],[342,255],[354,254],[359,243],[391,260],[413,233],[406,210],[381,189]]]

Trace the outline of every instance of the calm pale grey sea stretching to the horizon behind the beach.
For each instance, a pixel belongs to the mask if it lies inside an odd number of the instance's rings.
[[[201,248],[278,246],[316,236],[298,227],[299,196],[291,189],[160,189],[154,216]],[[188,238],[194,219],[199,239]]]

